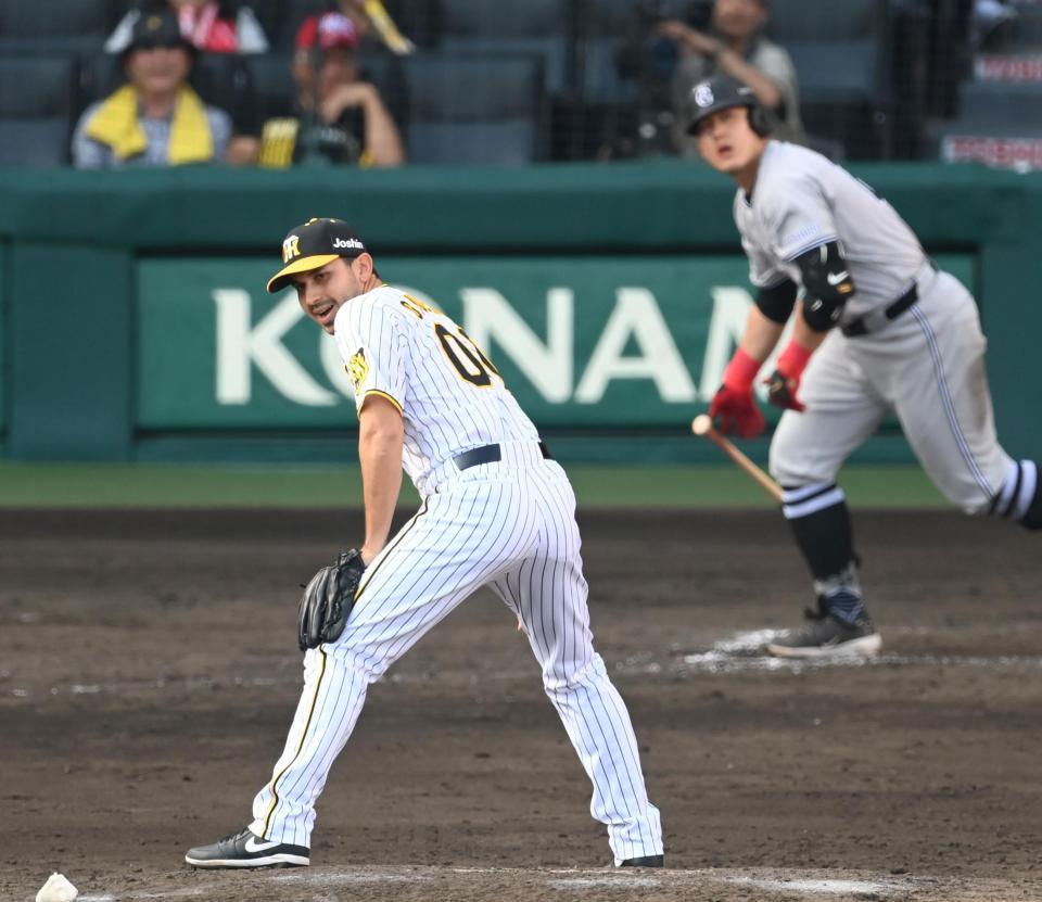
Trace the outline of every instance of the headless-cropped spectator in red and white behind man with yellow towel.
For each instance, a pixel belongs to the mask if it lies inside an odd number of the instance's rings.
[[[181,34],[204,53],[267,53],[268,39],[250,7],[231,0],[150,0],[144,11],[130,10],[115,27],[105,50],[122,53],[142,15],[169,10]]]

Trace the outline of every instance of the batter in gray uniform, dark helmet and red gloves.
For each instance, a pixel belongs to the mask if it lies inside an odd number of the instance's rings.
[[[874,655],[881,640],[836,484],[851,452],[893,411],[953,504],[1031,530],[1042,529],[1038,467],[999,445],[974,298],[937,269],[893,207],[824,156],[770,140],[752,92],[729,78],[697,85],[690,111],[702,156],[738,183],[735,223],[759,290],[710,407],[722,431],[751,437],[763,429],[753,380],[795,317],[765,380],[771,403],[786,410],[771,472],[817,609],[766,650]]]

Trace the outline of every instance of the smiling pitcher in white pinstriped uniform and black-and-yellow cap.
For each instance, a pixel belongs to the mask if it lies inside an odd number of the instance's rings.
[[[355,389],[366,567],[343,633],[305,655],[296,715],[252,822],[186,861],[309,864],[315,805],[369,684],[487,585],[524,625],[615,865],[661,866],[630,715],[593,646],[564,471],[492,361],[448,317],[383,284],[346,224],[312,219],[282,250],[268,291],[295,287],[305,314],[335,335]],[[403,468],[423,500],[389,538]]]

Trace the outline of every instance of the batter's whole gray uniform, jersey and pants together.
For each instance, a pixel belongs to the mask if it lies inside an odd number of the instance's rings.
[[[836,241],[856,287],[803,376],[806,410],[786,411],[775,432],[771,471],[790,493],[786,516],[841,498],[839,468],[892,410],[952,503],[986,511],[1019,482],[1009,511],[1019,519],[1037,472],[997,443],[977,306],[936,270],[893,207],[821,154],[771,141],[751,201],[741,191],[735,199],[735,221],[753,284],[799,282],[795,259]],[[887,308],[913,289],[916,302],[889,319]]]

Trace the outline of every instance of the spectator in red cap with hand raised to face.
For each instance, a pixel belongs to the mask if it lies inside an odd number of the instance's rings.
[[[354,22],[340,12],[304,21],[293,58],[293,109],[265,123],[259,165],[405,162],[402,137],[380,92],[361,80],[358,41]]]

